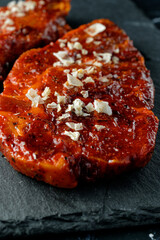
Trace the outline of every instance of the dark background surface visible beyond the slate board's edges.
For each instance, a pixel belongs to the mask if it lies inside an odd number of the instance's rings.
[[[1,3],[2,0],[0,0]],[[97,0],[98,1],[98,0]],[[105,1],[105,0],[104,0]],[[160,0],[133,0],[137,6],[144,11],[146,16],[148,16],[152,22],[156,25],[157,28],[160,28]],[[3,1],[5,2],[5,1]],[[121,2],[121,0],[117,0]],[[77,0],[77,4],[80,3],[80,0]],[[123,6],[122,6],[123,7]],[[75,26],[79,23],[75,23]],[[159,43],[160,44],[160,43]],[[71,233],[63,235],[40,235],[38,238],[51,240],[51,239],[65,239],[65,240],[151,240],[149,234],[154,235],[155,240],[160,240],[160,226],[145,226],[145,227],[134,227],[134,228],[124,228],[124,229],[115,229],[108,231],[96,231],[96,232],[85,232],[85,233]],[[36,236],[32,237],[23,237],[23,239],[35,239]],[[7,239],[9,239],[7,237]],[[13,238],[12,238],[13,239]],[[15,239],[22,239],[16,237]]]

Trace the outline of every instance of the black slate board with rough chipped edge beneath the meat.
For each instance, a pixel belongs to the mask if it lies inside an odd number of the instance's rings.
[[[7,1],[0,0],[0,4]],[[129,0],[72,0],[72,27],[109,18],[143,53],[160,118],[160,33]],[[17,173],[0,158],[0,237],[75,232],[160,222],[160,132],[150,163],[110,183],[56,189]]]

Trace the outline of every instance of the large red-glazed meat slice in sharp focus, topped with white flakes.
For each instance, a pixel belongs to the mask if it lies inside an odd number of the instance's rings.
[[[95,20],[16,61],[0,95],[0,146],[27,176],[74,188],[144,167],[155,146],[154,86],[113,22]]]

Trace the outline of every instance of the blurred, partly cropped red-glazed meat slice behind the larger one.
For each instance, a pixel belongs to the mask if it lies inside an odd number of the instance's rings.
[[[23,52],[56,41],[70,30],[65,21],[69,10],[70,0],[12,1],[0,8],[0,80]]]

